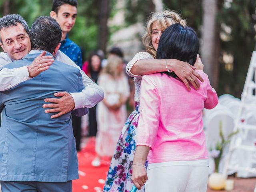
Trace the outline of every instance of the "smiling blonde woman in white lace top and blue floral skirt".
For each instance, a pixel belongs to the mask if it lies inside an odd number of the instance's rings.
[[[139,102],[142,75],[174,71],[188,90],[190,90],[190,85],[196,89],[200,88],[198,79],[203,82],[202,77],[194,70],[196,67],[186,62],[176,59],[170,59],[167,62],[165,62],[166,60],[155,59],[162,32],[174,23],[186,25],[185,20],[182,20],[176,12],[170,10],[152,14],[148,21],[146,33],[142,37],[146,52],[137,53],[126,66],[127,74],[134,77],[136,110],[130,114],[122,129],[116,152],[110,164],[104,191],[130,192],[134,185],[132,182],[132,164],[136,149],[137,125],[140,114]],[[200,69],[203,67],[201,62],[196,62],[195,65]],[[144,186],[138,190],[138,192],[143,191]]]

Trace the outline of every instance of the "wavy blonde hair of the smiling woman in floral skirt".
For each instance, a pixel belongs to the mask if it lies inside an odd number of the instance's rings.
[[[156,50],[152,45],[151,30],[152,25],[157,22],[161,26],[161,30],[165,30],[168,26],[179,23],[182,26],[186,26],[186,20],[183,20],[181,16],[170,10],[164,10],[161,12],[152,13],[148,20],[146,27],[146,33],[142,36],[142,42],[146,48],[146,51],[156,58]]]

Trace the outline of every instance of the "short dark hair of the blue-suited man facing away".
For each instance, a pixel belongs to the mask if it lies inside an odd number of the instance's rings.
[[[30,29],[31,48],[53,53],[60,43],[62,31],[58,22],[48,16],[40,16]]]

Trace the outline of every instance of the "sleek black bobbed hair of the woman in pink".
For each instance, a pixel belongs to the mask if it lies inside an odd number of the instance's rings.
[[[196,56],[199,50],[199,40],[196,32],[181,24],[172,24],[162,33],[158,49],[156,52],[157,59],[177,59],[188,62],[194,66]],[[174,78],[178,76],[174,72],[162,72]]]

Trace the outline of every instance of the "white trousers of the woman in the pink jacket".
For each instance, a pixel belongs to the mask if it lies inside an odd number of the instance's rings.
[[[147,171],[145,192],[206,192],[208,166],[163,166]]]

